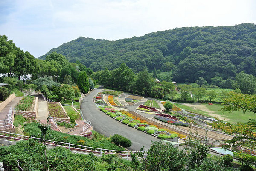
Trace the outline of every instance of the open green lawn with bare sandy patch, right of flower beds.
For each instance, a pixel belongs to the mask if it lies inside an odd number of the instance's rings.
[[[193,105],[192,103],[188,103],[189,105]],[[229,123],[245,123],[249,121],[250,118],[256,119],[256,114],[253,112],[246,112],[245,114],[242,113],[242,111],[235,111],[232,113],[229,112],[224,112],[222,113],[221,108],[222,106],[219,104],[213,104],[209,105],[208,103],[200,103],[200,105],[205,106],[207,110],[204,110],[204,108],[198,109],[197,107],[193,108],[190,106],[182,105],[175,103],[179,108],[185,109],[185,110],[190,110],[199,114],[204,114],[209,117],[214,117],[212,114],[219,116],[220,118],[224,118],[226,122]],[[212,114],[211,114],[212,113]]]

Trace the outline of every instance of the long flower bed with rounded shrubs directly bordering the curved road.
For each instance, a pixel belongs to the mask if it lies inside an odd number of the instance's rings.
[[[98,107],[105,114],[110,117],[118,120],[124,124],[127,124],[130,127],[134,127],[140,131],[145,131],[148,134],[154,135],[161,139],[171,139],[175,137],[184,137],[182,134],[176,133],[174,131],[170,131],[167,129],[159,128],[156,125],[153,125],[150,122],[140,119],[139,117],[135,117],[133,114],[128,111],[123,110],[115,110],[111,106],[99,106]]]

